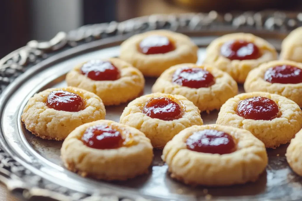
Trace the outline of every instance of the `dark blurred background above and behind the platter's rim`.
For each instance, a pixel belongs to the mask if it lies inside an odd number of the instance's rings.
[[[0,58],[29,40],[49,40],[85,24],[159,13],[302,11],[302,0],[1,0]]]

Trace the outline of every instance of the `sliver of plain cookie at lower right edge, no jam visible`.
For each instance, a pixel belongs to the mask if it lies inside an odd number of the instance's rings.
[[[300,130],[294,139],[291,140],[287,150],[286,159],[293,171],[302,176],[302,130]]]

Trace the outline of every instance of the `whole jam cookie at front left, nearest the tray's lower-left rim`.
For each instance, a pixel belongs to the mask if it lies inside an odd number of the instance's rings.
[[[61,158],[83,177],[126,180],[148,172],[153,148],[139,130],[100,120],[73,130],[63,142]]]

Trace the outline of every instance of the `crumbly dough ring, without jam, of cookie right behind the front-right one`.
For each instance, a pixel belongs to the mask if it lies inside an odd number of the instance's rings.
[[[241,100],[261,96],[272,99],[279,106],[280,115],[272,120],[245,119],[237,115]],[[288,143],[302,127],[302,111],[294,101],[265,92],[242,93],[226,101],[220,108],[217,124],[249,130],[266,147],[275,148]]]

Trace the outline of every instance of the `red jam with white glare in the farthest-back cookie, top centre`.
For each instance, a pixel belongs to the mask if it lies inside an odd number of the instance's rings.
[[[165,36],[152,35],[140,42],[140,52],[145,55],[165,54],[174,49],[173,43]]]

